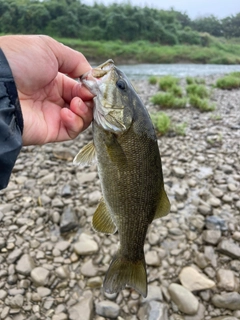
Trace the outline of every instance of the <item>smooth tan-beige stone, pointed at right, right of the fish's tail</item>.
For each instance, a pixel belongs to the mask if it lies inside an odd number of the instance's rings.
[[[192,267],[183,268],[179,274],[179,279],[182,285],[190,291],[206,290],[215,286],[214,281]]]

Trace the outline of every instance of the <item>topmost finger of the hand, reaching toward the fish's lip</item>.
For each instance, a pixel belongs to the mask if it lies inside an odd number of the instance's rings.
[[[42,36],[58,60],[58,69],[72,78],[78,78],[91,69],[84,55],[73,50],[51,37]]]

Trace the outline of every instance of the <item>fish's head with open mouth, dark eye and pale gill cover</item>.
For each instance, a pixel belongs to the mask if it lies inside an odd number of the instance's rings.
[[[134,89],[123,72],[108,60],[81,77],[95,95],[93,119],[104,130],[121,134],[132,123],[131,99]]]

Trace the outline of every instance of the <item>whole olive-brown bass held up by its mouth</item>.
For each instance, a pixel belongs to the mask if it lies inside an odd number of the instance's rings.
[[[80,81],[94,95],[93,141],[74,163],[97,161],[103,197],[92,218],[97,232],[119,235],[119,249],[103,281],[107,293],[126,286],[147,296],[144,242],[148,226],[167,215],[161,157],[149,113],[126,75],[113,60]]]

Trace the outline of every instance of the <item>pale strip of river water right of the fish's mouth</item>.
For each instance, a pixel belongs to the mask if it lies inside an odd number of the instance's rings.
[[[130,79],[146,79],[151,75],[164,76],[171,74],[176,77],[203,77],[240,71],[240,65],[216,64],[135,64],[118,65]]]

